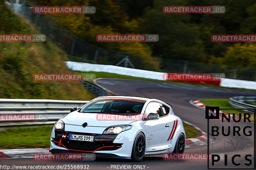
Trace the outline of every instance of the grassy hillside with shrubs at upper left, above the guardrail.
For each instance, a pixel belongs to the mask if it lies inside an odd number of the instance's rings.
[[[0,1],[1,34],[39,33]],[[90,100],[81,82],[33,80],[35,73],[72,73],[67,54],[51,41],[0,43],[0,98]]]

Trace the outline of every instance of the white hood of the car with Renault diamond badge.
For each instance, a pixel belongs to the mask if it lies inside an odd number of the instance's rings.
[[[115,115],[115,119],[101,119],[101,116],[111,116]],[[138,117],[141,117],[142,115],[137,115],[135,116],[124,116],[122,117],[123,119],[118,118],[116,119],[116,114],[96,114],[96,113],[80,113],[77,111],[71,112],[68,115],[66,115],[64,118],[61,120],[65,124],[71,124],[71,125],[79,125],[81,126],[83,123],[87,123],[87,126],[97,126],[97,127],[109,127],[109,126],[114,126],[114,125],[122,125],[122,124],[129,124],[131,122],[137,121]],[[139,119],[140,120],[140,119]]]

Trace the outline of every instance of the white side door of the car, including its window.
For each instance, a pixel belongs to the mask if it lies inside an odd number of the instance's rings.
[[[170,121],[169,115],[163,112],[161,104],[158,102],[150,102],[145,109],[145,116],[150,113],[157,113],[159,119],[146,121],[146,148],[166,145],[169,142],[170,129],[173,122]],[[170,143],[169,143],[170,144]]]

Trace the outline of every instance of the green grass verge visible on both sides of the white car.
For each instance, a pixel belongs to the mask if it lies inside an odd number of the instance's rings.
[[[187,138],[198,137],[200,132],[183,123]],[[52,125],[12,127],[0,132],[0,149],[49,148]]]

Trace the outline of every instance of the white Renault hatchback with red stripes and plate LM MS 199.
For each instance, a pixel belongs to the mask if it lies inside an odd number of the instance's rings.
[[[145,97],[101,96],[56,121],[50,152],[141,161],[146,155],[183,153],[185,139],[171,105]]]

